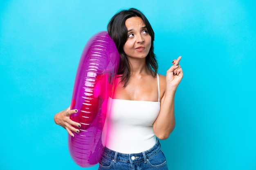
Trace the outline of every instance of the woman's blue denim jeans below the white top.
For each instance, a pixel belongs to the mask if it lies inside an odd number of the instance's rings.
[[[105,148],[98,170],[168,170],[159,141],[142,153],[124,154]]]

